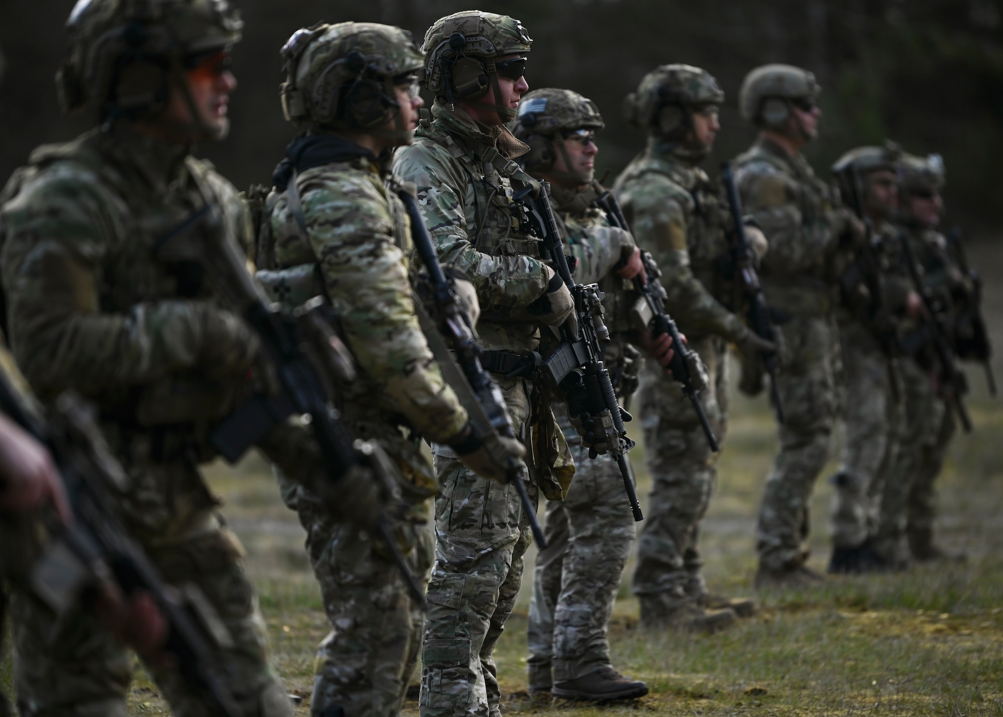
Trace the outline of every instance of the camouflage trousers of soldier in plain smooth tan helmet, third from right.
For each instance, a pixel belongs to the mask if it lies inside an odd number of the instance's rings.
[[[808,504],[828,458],[839,406],[840,338],[828,315],[794,316],[782,326],[785,363],[777,377],[786,421],[766,478],[756,524],[759,564],[786,570],[808,557]]]

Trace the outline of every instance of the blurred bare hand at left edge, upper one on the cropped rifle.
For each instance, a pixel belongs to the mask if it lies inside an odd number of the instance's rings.
[[[72,519],[48,450],[0,414],[0,510],[31,511],[47,502],[64,522]]]

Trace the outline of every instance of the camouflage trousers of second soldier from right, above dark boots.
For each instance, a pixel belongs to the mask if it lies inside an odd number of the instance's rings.
[[[840,324],[844,366],[846,445],[830,518],[835,547],[861,546],[878,526],[881,497],[903,421],[901,378],[871,332],[856,321]],[[898,362],[896,362],[898,364]],[[892,382],[896,382],[893,386]]]

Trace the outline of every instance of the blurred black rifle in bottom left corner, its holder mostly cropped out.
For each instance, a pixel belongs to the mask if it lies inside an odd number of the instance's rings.
[[[88,408],[71,392],[61,395],[45,423],[0,378],[0,411],[48,448],[66,489],[70,524],[52,525],[52,541],[32,569],[31,585],[57,614],[70,608],[88,586],[105,583],[126,598],[149,595],[166,623],[160,650],[212,714],[242,717],[225,682],[225,667],[213,654],[233,639],[205,595],[166,584],[118,519],[110,490],[127,477],[111,456]]]

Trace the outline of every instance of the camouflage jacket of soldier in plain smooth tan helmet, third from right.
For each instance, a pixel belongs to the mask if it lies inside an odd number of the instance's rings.
[[[742,207],[769,239],[760,274],[766,301],[798,315],[829,313],[835,294],[828,261],[838,241],[829,187],[802,156],[765,138],[734,166]]]

